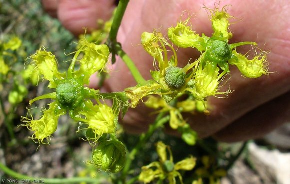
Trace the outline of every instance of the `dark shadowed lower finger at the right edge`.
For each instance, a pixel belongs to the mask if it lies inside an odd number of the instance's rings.
[[[290,122],[290,92],[247,113],[214,137],[226,142],[254,139],[286,122]]]

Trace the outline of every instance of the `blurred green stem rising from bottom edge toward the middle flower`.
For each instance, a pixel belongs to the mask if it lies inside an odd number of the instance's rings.
[[[151,137],[151,135],[154,133],[154,131],[157,128],[162,127],[163,124],[165,124],[166,122],[168,122],[170,120],[169,115],[167,115],[165,117],[163,117],[163,116],[164,116],[163,112],[157,116],[155,122],[149,126],[149,130],[146,133],[143,133],[140,136],[140,139],[139,139],[137,145],[131,150],[130,154],[128,155],[126,164],[122,170],[122,175],[121,175],[121,179],[123,180],[123,183],[125,183],[125,178],[126,178],[127,173],[131,167],[132,161],[135,159],[136,154],[142,148],[144,143]]]

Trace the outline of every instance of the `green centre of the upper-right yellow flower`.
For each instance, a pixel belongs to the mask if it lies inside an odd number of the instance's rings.
[[[216,63],[226,62],[231,58],[231,49],[226,41],[209,39],[205,58]]]

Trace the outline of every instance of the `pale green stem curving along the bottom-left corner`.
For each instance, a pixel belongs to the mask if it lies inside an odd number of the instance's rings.
[[[24,174],[20,174],[11,170],[10,168],[6,167],[4,164],[0,162],[0,170],[2,170],[7,175],[15,178],[15,179],[27,179],[33,182],[34,180],[43,180],[46,184],[49,183],[80,183],[80,182],[87,182],[87,183],[96,183],[101,182],[100,179],[94,179],[90,177],[72,177],[72,178],[37,178],[31,177]]]

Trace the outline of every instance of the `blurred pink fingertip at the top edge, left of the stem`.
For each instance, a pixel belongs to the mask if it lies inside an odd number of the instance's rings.
[[[97,29],[97,20],[108,20],[115,8],[114,0],[60,0],[57,15],[63,26],[74,35]]]

